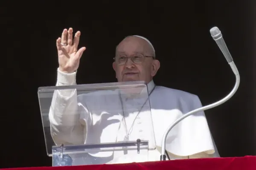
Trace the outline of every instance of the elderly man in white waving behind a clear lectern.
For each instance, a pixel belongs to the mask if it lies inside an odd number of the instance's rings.
[[[79,31],[76,32],[73,39],[73,29],[64,29],[61,38],[56,41],[59,62],[57,86],[76,84],[79,59],[85,50],[85,47],[78,49],[80,34]],[[172,122],[183,114],[202,106],[196,95],[156,86],[153,77],[159,68],[160,62],[155,57],[154,47],[144,37],[126,37],[116,47],[113,69],[116,72],[118,82],[145,81],[148,86],[156,141],[156,150],[149,151],[148,161],[160,160],[163,133]],[[130,113],[125,113],[122,108],[123,115],[116,113],[117,115],[114,115],[116,119],[113,118],[114,116],[109,116],[111,111],[117,111],[119,98],[115,98],[115,96],[106,98],[104,95],[94,95],[97,97],[93,98],[93,95],[89,97],[77,95],[76,90],[72,89],[55,91],[49,112],[54,142],[56,144],[116,142],[118,134],[115,132],[118,133],[121,125],[124,126],[123,117],[129,117]],[[98,110],[108,113],[108,120],[112,122],[103,127],[100,116],[103,117],[106,114],[96,113]],[[137,114],[139,113],[140,111]],[[137,121],[135,119],[134,122]],[[147,123],[147,121],[142,120],[137,121],[136,125],[141,124],[141,128],[145,130]],[[125,127],[127,133],[125,137],[129,137],[130,134],[127,131],[131,130],[133,125]],[[134,127],[134,133],[139,133],[136,128],[137,126]],[[218,157],[218,150],[212,140],[204,112],[189,116],[176,125],[167,137],[166,150],[170,159]],[[129,153],[127,155],[125,156],[124,153],[116,155],[114,153],[97,153],[91,154],[90,158],[93,157],[93,160],[97,158],[97,161],[94,162],[96,164],[141,161],[135,159],[136,154]],[[74,160],[77,162],[73,164],[81,164],[78,157],[73,157]],[[80,163],[78,163],[79,161]]]

